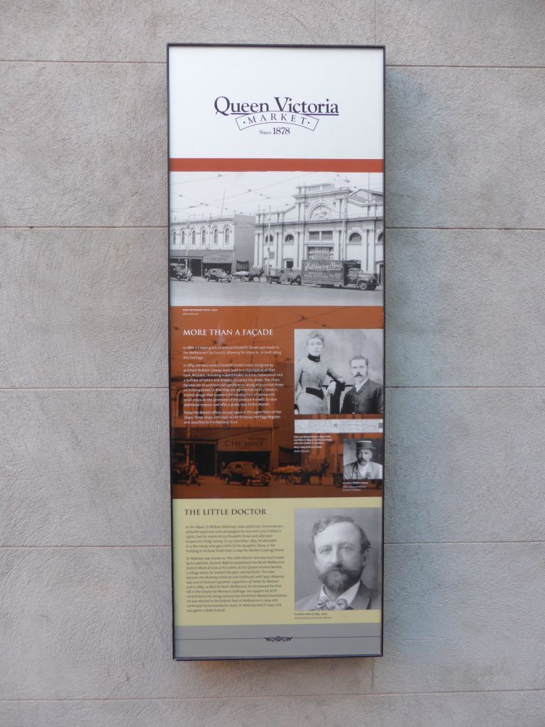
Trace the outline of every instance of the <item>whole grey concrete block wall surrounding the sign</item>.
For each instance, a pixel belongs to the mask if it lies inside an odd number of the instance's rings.
[[[541,727],[541,0],[14,0],[0,724]],[[387,46],[385,655],[171,661],[166,42]]]

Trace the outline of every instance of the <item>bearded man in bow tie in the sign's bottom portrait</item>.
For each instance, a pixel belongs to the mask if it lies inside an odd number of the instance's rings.
[[[352,518],[332,515],[312,527],[310,550],[321,590],[296,601],[296,611],[359,611],[380,608],[377,590],[361,580],[371,543]]]

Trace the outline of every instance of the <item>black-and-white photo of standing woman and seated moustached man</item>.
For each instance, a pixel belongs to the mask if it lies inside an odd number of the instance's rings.
[[[384,414],[382,329],[296,329],[295,414]]]

